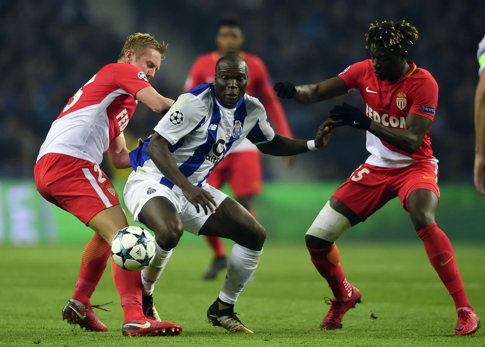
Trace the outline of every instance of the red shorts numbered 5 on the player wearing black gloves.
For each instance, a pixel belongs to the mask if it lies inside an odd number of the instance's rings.
[[[381,168],[360,165],[333,193],[361,221],[365,221],[389,200],[399,196],[406,211],[407,198],[415,189],[428,189],[439,198],[438,169],[428,160],[420,160],[403,168]]]

